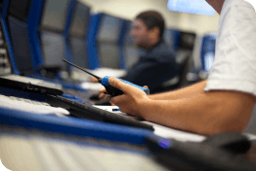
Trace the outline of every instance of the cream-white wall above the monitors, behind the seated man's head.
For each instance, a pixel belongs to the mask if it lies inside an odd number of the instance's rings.
[[[219,15],[214,17],[199,16],[170,12],[167,9],[168,0],[80,0],[92,7],[93,13],[104,12],[111,16],[134,19],[147,10],[156,10],[166,20],[167,28],[194,31],[197,34],[217,32]]]

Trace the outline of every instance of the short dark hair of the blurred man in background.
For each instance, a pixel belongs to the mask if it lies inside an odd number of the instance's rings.
[[[165,23],[163,17],[158,12],[143,12],[140,15],[138,15],[136,19],[142,19],[143,22],[148,26],[149,30],[153,27],[158,27],[160,29],[159,38],[162,38],[165,29]]]

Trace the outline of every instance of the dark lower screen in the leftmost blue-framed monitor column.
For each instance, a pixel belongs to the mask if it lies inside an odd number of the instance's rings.
[[[15,17],[8,17],[8,21],[17,68],[21,73],[32,72],[33,65],[26,24]]]

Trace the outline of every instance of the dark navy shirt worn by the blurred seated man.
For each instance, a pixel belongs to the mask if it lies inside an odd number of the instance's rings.
[[[136,85],[148,85],[149,90],[178,75],[179,65],[174,51],[160,40],[149,51],[140,56],[139,61],[121,79]]]

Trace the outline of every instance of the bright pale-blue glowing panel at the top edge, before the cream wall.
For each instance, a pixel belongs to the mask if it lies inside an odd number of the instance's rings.
[[[167,8],[174,12],[206,16],[213,16],[216,13],[205,0],[169,0]]]

